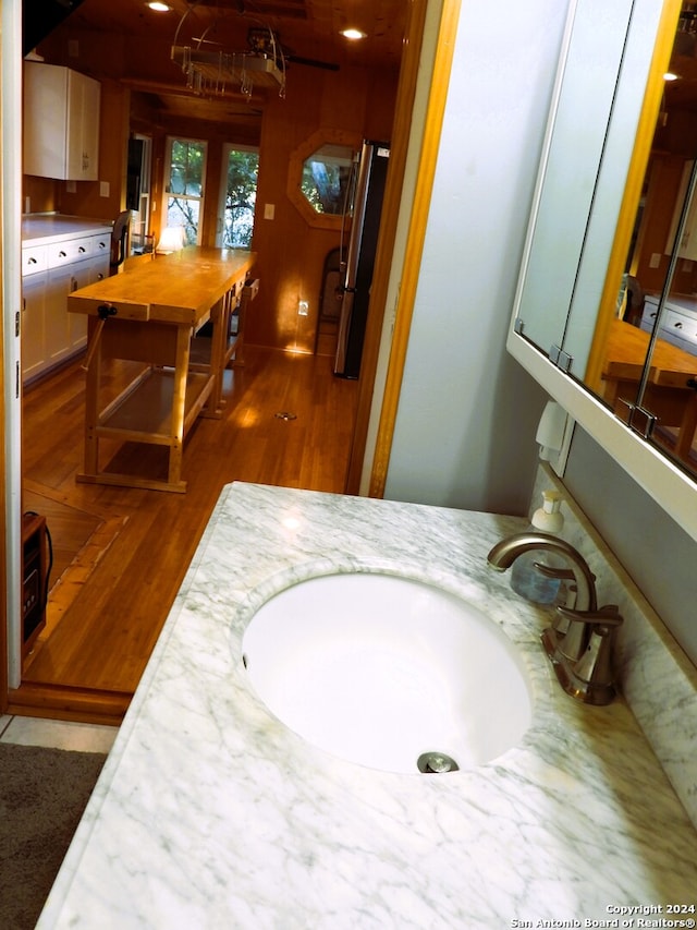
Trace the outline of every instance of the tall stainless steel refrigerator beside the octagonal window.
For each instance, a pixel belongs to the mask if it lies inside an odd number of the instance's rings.
[[[390,147],[384,142],[364,142],[358,159],[352,208],[344,215],[350,224],[347,241],[342,232],[341,312],[334,374],[357,378],[368,317],[375,252],[388,173]]]

